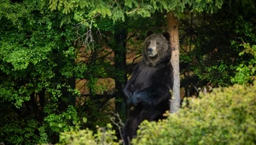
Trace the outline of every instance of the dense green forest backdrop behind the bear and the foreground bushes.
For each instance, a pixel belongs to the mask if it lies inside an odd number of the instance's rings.
[[[56,143],[63,131],[124,122],[122,90],[146,32],[168,31],[169,11],[179,24],[182,101],[253,84],[253,0],[1,0],[0,142]]]

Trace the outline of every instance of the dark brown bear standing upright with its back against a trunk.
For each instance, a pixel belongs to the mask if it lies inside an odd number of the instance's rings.
[[[164,119],[170,108],[172,91],[172,50],[168,32],[147,33],[143,43],[143,60],[131,73],[125,85],[125,102],[131,107],[123,130],[125,145],[137,135],[138,125],[147,119]]]

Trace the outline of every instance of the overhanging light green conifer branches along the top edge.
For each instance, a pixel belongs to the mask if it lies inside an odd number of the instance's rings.
[[[49,0],[49,9],[61,10],[64,14],[74,12],[74,17],[79,21],[84,22],[85,26],[89,26],[90,22],[95,22],[94,19],[101,15],[101,17],[108,17],[110,20],[125,21],[125,17],[134,19],[141,17],[150,17],[155,12],[173,11],[177,15],[182,13],[185,8],[191,8],[192,11],[207,13],[216,12],[221,9],[223,0],[213,1],[143,1],[136,0],[125,1],[90,1],[83,0],[65,1],[65,0]],[[63,20],[69,22],[70,19]]]

